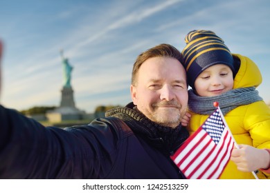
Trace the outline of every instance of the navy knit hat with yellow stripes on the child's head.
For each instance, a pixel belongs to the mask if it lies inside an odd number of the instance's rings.
[[[224,41],[214,32],[193,30],[186,35],[186,47],[183,48],[183,65],[186,68],[188,84],[194,90],[199,74],[215,64],[228,65],[233,73],[233,56]]]

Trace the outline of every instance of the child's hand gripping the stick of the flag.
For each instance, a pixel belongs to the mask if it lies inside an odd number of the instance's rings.
[[[267,150],[260,150],[250,145],[239,145],[239,149],[233,149],[231,161],[242,172],[253,172],[260,168],[267,169],[270,163],[270,154]]]

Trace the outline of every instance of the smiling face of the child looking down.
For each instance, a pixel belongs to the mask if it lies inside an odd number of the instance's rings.
[[[217,96],[233,89],[233,72],[224,64],[212,65],[195,80],[199,96]]]

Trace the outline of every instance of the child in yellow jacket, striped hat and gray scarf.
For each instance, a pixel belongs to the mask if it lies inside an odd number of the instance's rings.
[[[240,149],[220,179],[270,178],[270,109],[255,90],[262,82],[258,67],[247,57],[231,54],[224,41],[208,30],[193,30],[186,35],[183,49],[191,113],[188,130],[195,132],[219,102],[228,127]],[[255,148],[253,148],[255,147]],[[234,163],[233,163],[234,162]]]

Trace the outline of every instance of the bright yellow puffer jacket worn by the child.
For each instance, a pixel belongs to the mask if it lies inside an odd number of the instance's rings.
[[[241,61],[240,69],[234,80],[233,88],[257,87],[262,83],[262,76],[257,65],[247,57],[233,54]],[[188,130],[194,133],[204,123],[208,115],[191,112]],[[270,108],[264,101],[242,105],[228,112],[225,116],[228,127],[237,144],[252,145],[255,148],[270,148]],[[270,174],[258,172],[259,179],[270,179]],[[240,172],[233,161],[228,165],[220,179],[254,179],[251,172]]]

